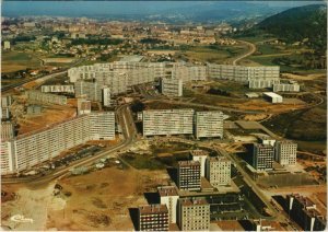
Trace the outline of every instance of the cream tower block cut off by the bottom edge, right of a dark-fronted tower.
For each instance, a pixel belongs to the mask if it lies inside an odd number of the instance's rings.
[[[178,227],[181,231],[209,231],[210,205],[204,199],[179,199]]]

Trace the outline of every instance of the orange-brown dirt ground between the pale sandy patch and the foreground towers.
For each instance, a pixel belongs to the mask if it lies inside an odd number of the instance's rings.
[[[65,208],[50,210],[47,229],[132,230],[129,208],[147,204],[143,193],[167,179],[165,171],[116,167],[61,179],[62,190],[71,196]]]

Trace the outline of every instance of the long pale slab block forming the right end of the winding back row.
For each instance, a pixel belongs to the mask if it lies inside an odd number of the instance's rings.
[[[279,80],[279,67],[245,67],[231,65],[208,63],[208,76],[212,79],[232,80],[237,82],[248,82],[250,80]]]

